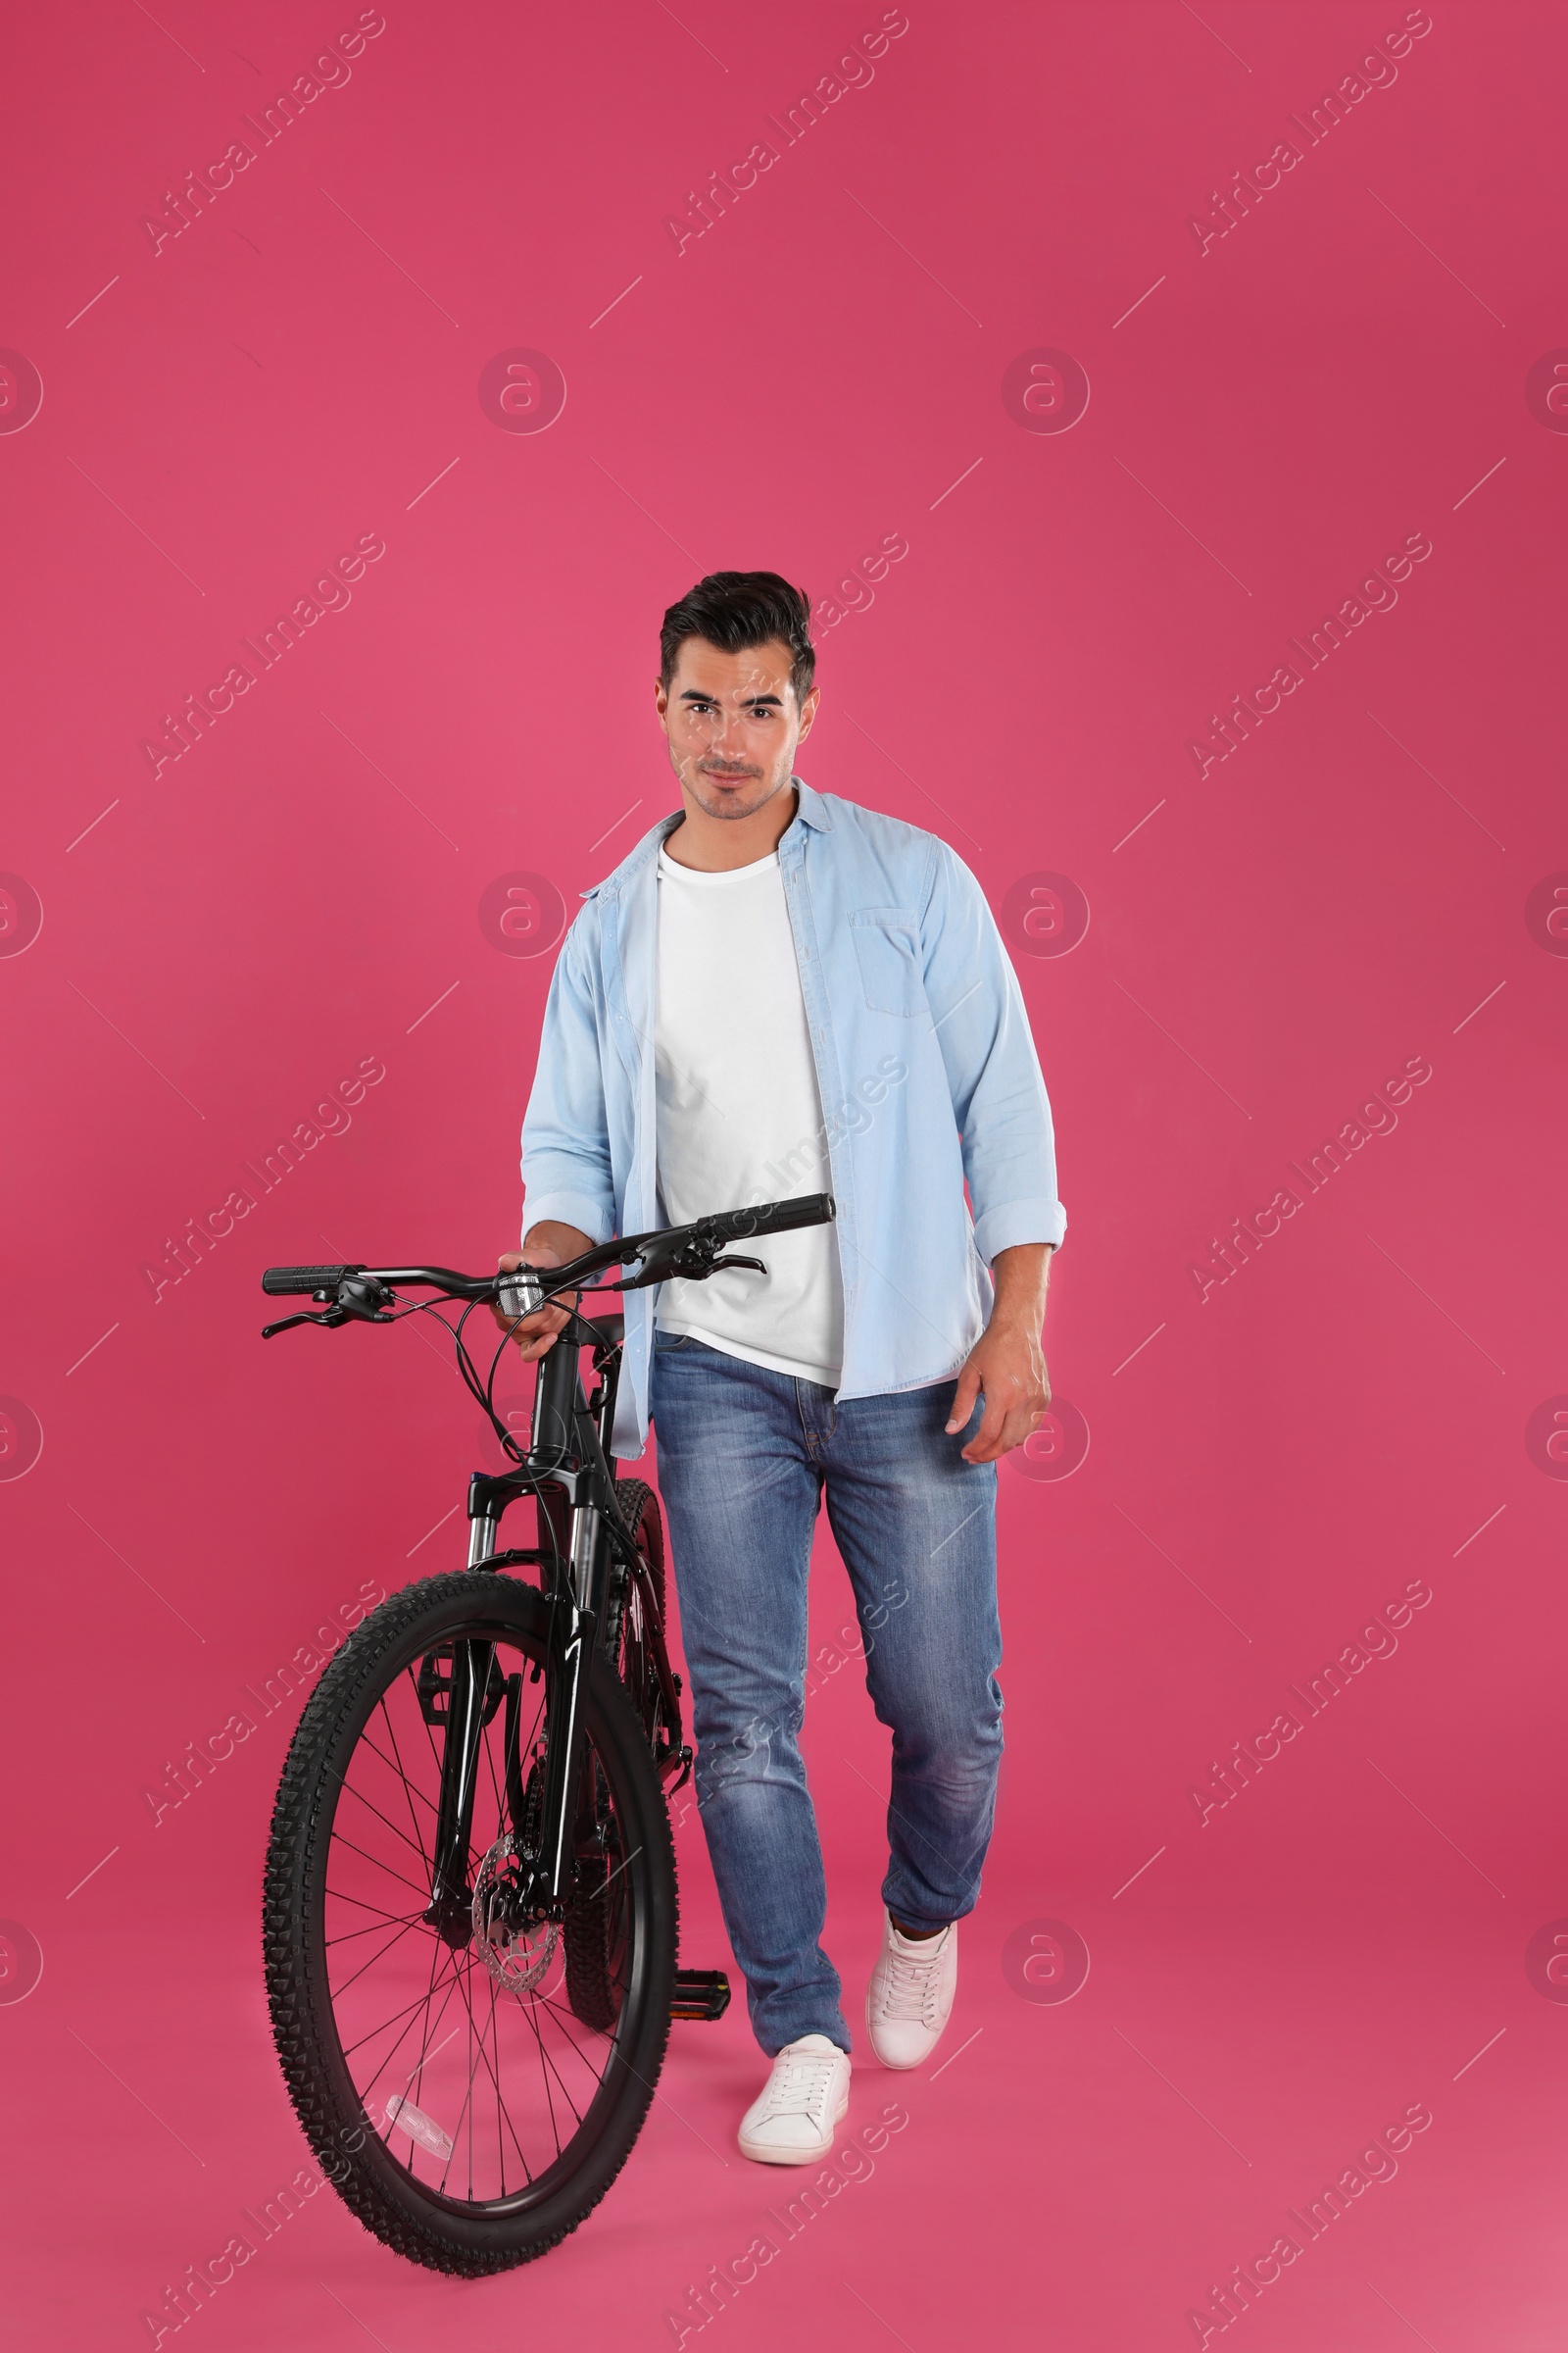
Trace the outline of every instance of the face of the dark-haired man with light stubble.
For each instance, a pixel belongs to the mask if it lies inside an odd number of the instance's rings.
[[[686,638],[668,689],[656,689],[670,767],[708,816],[752,816],[783,791],[795,748],[816,718],[818,689],[795,701],[790,647],[778,638],[724,654]]]

